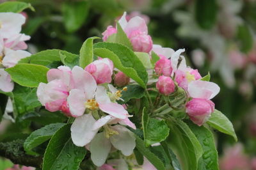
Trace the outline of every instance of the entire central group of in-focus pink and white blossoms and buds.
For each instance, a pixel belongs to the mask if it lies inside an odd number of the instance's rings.
[[[186,93],[184,111],[197,125],[205,123],[214,111],[211,99],[219,93],[218,85],[203,81],[198,70],[186,65],[184,56],[180,56],[184,49],[174,51],[152,45],[147,24],[141,17],[127,21],[124,13],[118,23],[135,52],[144,52],[150,59],[154,53],[159,57],[155,63],[151,62],[154,63],[152,68],[148,68],[148,72],[152,72],[148,75],[148,83],[155,83],[154,89],[159,91],[159,96],[168,98],[178,88],[182,89]],[[103,40],[108,41],[117,31],[117,27],[108,26],[102,33]],[[116,69],[113,61],[98,58],[85,68],[59,66],[47,72],[47,81],[38,86],[38,100],[48,111],[62,111],[75,118],[70,129],[72,141],[76,146],[90,150],[96,166],[108,167],[105,162],[111,149],[120,150],[125,156],[132,154],[135,137],[124,125],[136,127],[129,120],[131,115],[126,105],[118,104],[118,100],[122,100],[122,92],[127,91],[125,86],[135,82]],[[155,106],[159,105],[151,105],[157,109]]]

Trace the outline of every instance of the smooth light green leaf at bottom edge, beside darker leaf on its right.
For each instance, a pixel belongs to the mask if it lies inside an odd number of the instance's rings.
[[[168,122],[170,135],[168,147],[178,156],[182,169],[197,169],[198,160],[202,157],[202,146],[188,125],[181,120]]]

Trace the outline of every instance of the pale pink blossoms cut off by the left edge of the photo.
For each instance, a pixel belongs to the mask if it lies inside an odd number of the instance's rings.
[[[4,92],[10,92],[14,87],[4,68],[15,66],[20,59],[31,55],[25,50],[28,48],[25,41],[30,36],[20,33],[25,21],[26,17],[20,13],[0,13],[0,90]]]

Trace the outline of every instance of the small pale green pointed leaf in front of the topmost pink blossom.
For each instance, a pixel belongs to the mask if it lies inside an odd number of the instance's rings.
[[[116,22],[116,27],[117,27],[117,33],[115,35],[115,43],[121,43],[122,45],[125,45],[129,49],[132,50],[132,44],[125,34],[124,30],[120,26],[119,22]]]

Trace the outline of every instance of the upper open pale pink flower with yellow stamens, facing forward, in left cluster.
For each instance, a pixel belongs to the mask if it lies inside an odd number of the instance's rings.
[[[77,117],[84,114],[86,109],[91,111],[100,109],[116,118],[124,119],[128,112],[120,104],[111,102],[106,88],[97,86],[92,75],[82,68],[75,66],[72,70],[75,88],[70,91],[68,105],[72,116]]]

